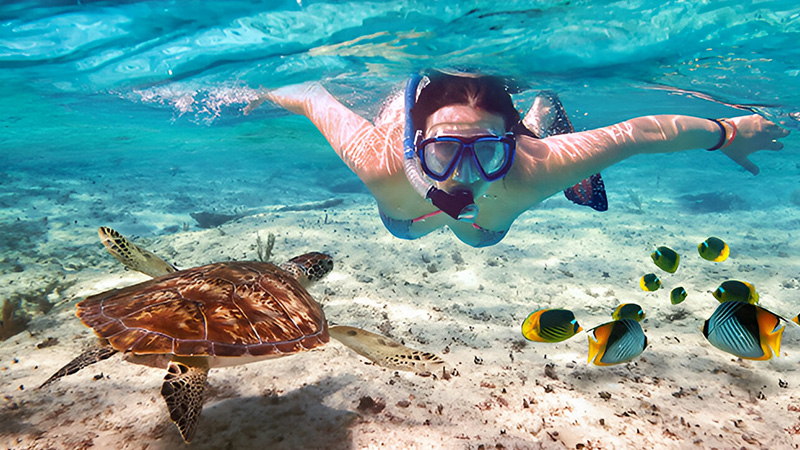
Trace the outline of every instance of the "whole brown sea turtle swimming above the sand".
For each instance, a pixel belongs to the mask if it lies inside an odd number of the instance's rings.
[[[93,295],[77,315],[101,345],[61,368],[41,387],[122,352],[127,361],[166,368],[161,395],[183,440],[194,436],[208,370],[291,355],[319,347],[329,336],[391,369],[444,369],[437,356],[354,327],[328,326],[305,286],[333,269],[333,259],[308,253],[276,266],[221,262],[177,270],[116,231],[100,238],[123,264],[152,280]]]

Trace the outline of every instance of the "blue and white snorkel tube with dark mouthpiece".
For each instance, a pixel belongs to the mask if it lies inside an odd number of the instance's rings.
[[[475,223],[475,218],[478,216],[478,205],[475,204],[472,192],[461,190],[454,194],[448,194],[437,188],[423,177],[419,164],[414,159],[416,130],[411,121],[411,108],[417,101],[417,88],[421,81],[422,75],[414,74],[406,84],[406,124],[403,135],[403,170],[406,173],[406,178],[422,198],[433,203],[433,206],[439,208],[448,216],[456,220]]]

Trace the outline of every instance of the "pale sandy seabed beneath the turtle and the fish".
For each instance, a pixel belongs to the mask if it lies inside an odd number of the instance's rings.
[[[700,333],[717,304],[710,293],[727,279],[752,282],[776,313],[800,312],[796,206],[690,213],[667,200],[638,204],[631,193],[600,214],[559,197],[524,214],[500,244],[473,249],[448,230],[393,238],[367,195],[343,198],[326,210],[253,213],[137,242],[182,268],[256,259],[257,236],[270,233],[276,261],[327,252],[335,269],[310,292],[331,323],[437,353],[452,376],[386,370],[336,342],[214,369],[188,448],[800,447],[800,329],[787,326],[770,361],[740,360]],[[36,389],[93,340],[75,303],[146,279],[106,254],[93,229],[82,230],[50,231],[74,241],[50,255],[65,268],[63,288],[48,294],[56,306],[0,343],[0,446],[183,448],[157,369],[113,357]],[[728,261],[699,257],[697,244],[710,235],[731,245]],[[651,262],[659,245],[683,256],[677,273]],[[41,278],[30,267],[4,275],[4,289]],[[647,272],[661,277],[661,290],[639,288]],[[672,305],[669,291],[679,285],[689,296]],[[572,309],[589,329],[623,302],[642,305],[649,340],[627,364],[588,365],[584,333],[540,344],[519,331],[530,312],[551,307]]]

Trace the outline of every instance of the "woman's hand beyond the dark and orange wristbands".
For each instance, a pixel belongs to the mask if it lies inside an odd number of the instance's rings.
[[[778,139],[789,135],[788,130],[757,114],[725,120],[736,125],[736,136],[730,145],[721,150],[722,153],[753,175],[758,175],[759,169],[747,157],[760,150],[778,151],[782,149],[783,143]],[[730,137],[729,135],[728,139]]]

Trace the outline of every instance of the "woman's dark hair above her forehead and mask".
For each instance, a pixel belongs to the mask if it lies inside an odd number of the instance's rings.
[[[517,128],[519,111],[503,80],[493,76],[456,76],[441,72],[428,75],[428,83],[411,108],[415,130],[424,130],[433,113],[448,105],[470,105],[503,117],[506,131]]]

